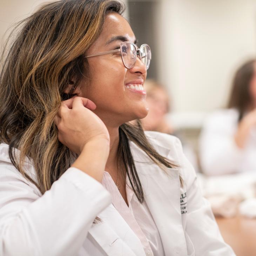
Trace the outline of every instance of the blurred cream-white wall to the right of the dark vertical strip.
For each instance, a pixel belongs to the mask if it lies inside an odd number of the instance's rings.
[[[158,67],[177,118],[225,106],[235,68],[256,52],[255,14],[255,0],[162,0]]]

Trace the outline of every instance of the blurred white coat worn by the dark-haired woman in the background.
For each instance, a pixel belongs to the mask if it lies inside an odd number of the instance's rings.
[[[236,109],[217,110],[206,119],[200,136],[200,161],[204,173],[256,171],[256,127],[251,129],[244,149],[240,149],[234,140],[237,126]]]

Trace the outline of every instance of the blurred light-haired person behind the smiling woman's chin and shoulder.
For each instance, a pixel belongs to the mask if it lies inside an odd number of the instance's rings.
[[[183,152],[198,171],[197,157],[194,149],[181,136],[179,131],[168,122],[166,115],[170,111],[170,97],[167,90],[153,79],[147,79],[144,83],[144,88],[147,91],[147,103],[149,106],[148,115],[141,119],[142,127],[146,131],[156,131],[167,133],[178,137],[183,146]]]

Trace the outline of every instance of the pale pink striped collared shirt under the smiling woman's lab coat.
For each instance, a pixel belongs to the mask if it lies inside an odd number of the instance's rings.
[[[112,204],[123,217],[129,227],[139,237],[147,256],[164,256],[163,245],[154,219],[146,202],[137,200],[126,176],[126,195],[128,206],[123,200],[115,182],[108,172],[104,172],[102,185],[112,195]]]

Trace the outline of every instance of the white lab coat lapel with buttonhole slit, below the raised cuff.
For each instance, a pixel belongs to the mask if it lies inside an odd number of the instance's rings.
[[[89,234],[108,256],[145,256],[139,238],[113,204],[102,211],[99,217],[101,222],[94,224]]]

